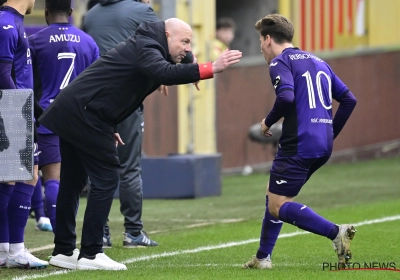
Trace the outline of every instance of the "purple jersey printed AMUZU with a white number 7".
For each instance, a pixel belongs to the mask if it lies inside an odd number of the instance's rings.
[[[29,37],[35,98],[44,110],[59,92],[99,58],[99,49],[88,34],[67,23],[51,24]],[[43,125],[39,133],[49,134]]]

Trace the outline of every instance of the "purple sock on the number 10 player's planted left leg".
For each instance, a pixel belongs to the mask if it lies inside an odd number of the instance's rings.
[[[278,239],[279,232],[282,228],[282,221],[274,218],[268,211],[268,196],[265,197],[265,214],[261,228],[260,247],[257,251],[257,258],[264,259],[268,255],[272,255],[275,242]]]

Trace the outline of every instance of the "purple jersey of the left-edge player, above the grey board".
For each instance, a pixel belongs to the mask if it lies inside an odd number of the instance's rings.
[[[13,64],[17,89],[33,89],[32,59],[24,28],[24,16],[14,8],[0,7],[0,61]]]

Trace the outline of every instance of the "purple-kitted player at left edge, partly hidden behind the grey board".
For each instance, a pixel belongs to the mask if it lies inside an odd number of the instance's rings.
[[[32,89],[32,60],[23,21],[35,0],[0,0],[0,89]],[[31,197],[38,180],[37,145],[34,178],[27,182],[0,183],[0,267],[41,268],[24,245]]]

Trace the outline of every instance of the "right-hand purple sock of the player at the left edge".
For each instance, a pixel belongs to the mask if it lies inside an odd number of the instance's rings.
[[[14,185],[8,203],[8,228],[10,244],[24,242],[24,230],[31,209],[34,187],[22,182]]]

